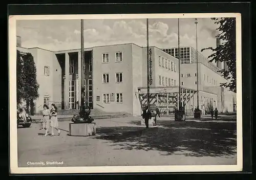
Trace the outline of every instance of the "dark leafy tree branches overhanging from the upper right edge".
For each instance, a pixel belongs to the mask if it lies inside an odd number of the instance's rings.
[[[226,61],[227,70],[220,70],[219,72],[227,77],[229,82],[222,83],[221,86],[229,88],[230,91],[236,92],[237,74],[236,74],[236,18],[211,18],[215,20],[215,24],[219,25],[216,30],[220,33],[216,36],[220,38],[223,43],[216,48],[205,48],[204,50],[211,50],[213,53],[208,56],[209,62]]]

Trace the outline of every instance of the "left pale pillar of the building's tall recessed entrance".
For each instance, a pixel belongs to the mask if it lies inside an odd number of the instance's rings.
[[[65,53],[65,109],[69,109],[69,54]]]

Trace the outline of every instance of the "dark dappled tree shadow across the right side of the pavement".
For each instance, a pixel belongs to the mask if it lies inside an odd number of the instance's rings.
[[[131,123],[138,123],[137,121]],[[222,156],[236,154],[236,123],[158,121],[161,127],[100,127],[96,139],[117,149],[163,151],[163,155]]]

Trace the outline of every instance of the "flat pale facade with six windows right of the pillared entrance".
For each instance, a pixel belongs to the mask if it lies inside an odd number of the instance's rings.
[[[122,52],[122,62],[115,62],[116,52]],[[102,53],[109,53],[109,63],[102,63]],[[104,111],[133,114],[132,44],[93,48],[93,100],[94,108]],[[123,82],[116,82],[116,73],[123,73]],[[102,74],[109,74],[109,83],[102,82]],[[114,101],[103,103],[103,94],[114,95]],[[116,102],[116,93],[123,93],[123,102]],[[97,96],[100,100],[97,101]]]

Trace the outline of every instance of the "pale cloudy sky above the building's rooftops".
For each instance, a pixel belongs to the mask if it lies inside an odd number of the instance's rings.
[[[218,25],[198,18],[198,51],[216,47]],[[51,51],[80,49],[80,20],[17,20],[16,34],[24,48]],[[149,19],[149,44],[158,48],[178,47],[178,19]],[[121,43],[146,47],[146,19],[84,19],[84,48]],[[195,18],[180,18],[180,47],[196,49]],[[212,52],[204,51],[208,57]]]

